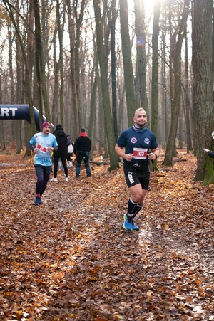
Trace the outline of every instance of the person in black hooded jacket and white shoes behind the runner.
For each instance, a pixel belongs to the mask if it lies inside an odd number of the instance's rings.
[[[54,150],[54,178],[51,181],[58,181],[57,179],[57,168],[58,168],[58,160],[61,158],[61,162],[63,165],[63,169],[66,174],[66,181],[68,181],[68,167],[66,164],[66,155],[67,155],[67,134],[63,130],[61,124],[56,125],[56,130],[53,132],[56,136],[56,140],[58,143],[58,150]]]

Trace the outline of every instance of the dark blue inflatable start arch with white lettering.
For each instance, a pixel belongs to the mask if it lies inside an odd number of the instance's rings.
[[[39,125],[39,110],[34,107],[34,119],[36,130],[40,132]],[[46,122],[46,117],[42,116],[43,122]],[[0,105],[0,120],[26,120],[31,123],[29,105]],[[51,124],[52,130],[54,125]]]

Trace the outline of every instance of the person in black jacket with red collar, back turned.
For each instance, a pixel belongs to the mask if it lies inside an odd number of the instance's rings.
[[[91,140],[86,134],[85,128],[81,127],[81,132],[74,142],[73,152],[76,154],[76,178],[80,175],[81,162],[83,160],[86,167],[87,177],[91,177],[91,169],[89,166],[89,152],[91,151]]]

